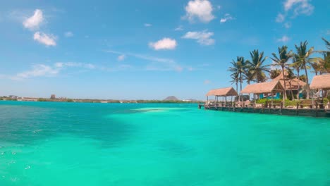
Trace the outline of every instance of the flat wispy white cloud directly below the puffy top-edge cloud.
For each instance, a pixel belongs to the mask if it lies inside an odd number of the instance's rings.
[[[211,38],[213,35],[213,32],[207,32],[207,30],[203,30],[202,32],[187,32],[182,38],[196,39],[197,42],[202,45],[212,45],[215,42],[215,40]]]

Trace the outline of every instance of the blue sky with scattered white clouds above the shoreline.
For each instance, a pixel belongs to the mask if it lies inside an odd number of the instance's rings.
[[[2,1],[0,95],[204,99],[231,86],[236,56],[325,49],[329,11],[327,0]]]

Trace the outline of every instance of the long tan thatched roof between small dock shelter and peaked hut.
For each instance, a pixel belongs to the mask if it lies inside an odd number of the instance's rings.
[[[261,82],[252,85],[247,85],[241,93],[246,94],[263,94],[263,93],[271,93],[271,92],[283,92],[284,88],[279,81],[271,81],[271,82]]]

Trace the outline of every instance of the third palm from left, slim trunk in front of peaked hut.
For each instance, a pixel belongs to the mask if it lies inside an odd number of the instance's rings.
[[[282,68],[282,75],[283,75],[283,81],[284,81],[284,97],[285,100],[286,97],[286,75],[284,74],[284,68],[288,68],[288,60],[291,58],[290,54],[288,53],[288,46],[283,45],[282,47],[279,47],[279,57],[276,56],[275,53],[272,53],[274,58],[271,58],[274,61],[273,66],[281,66]]]

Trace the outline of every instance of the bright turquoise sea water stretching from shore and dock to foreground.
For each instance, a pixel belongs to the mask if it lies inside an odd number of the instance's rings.
[[[330,185],[330,119],[0,101],[0,185]]]

